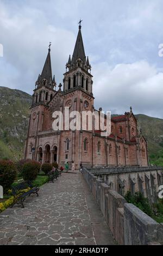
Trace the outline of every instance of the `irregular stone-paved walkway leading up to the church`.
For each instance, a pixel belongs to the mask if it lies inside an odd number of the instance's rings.
[[[113,245],[82,174],[63,173],[0,214],[0,245]]]

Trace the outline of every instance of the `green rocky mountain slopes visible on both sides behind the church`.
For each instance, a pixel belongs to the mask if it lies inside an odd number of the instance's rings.
[[[32,96],[21,90],[0,87],[0,159],[18,160],[23,157]],[[163,119],[135,115],[142,133],[148,140],[149,156],[163,163]]]

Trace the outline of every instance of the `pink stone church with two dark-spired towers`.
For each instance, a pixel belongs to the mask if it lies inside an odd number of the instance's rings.
[[[30,107],[25,159],[58,162],[64,166],[74,161],[87,167],[148,166],[147,141],[137,128],[132,109],[111,118],[111,134],[102,137],[100,130],[53,130],[54,111],[64,115],[65,106],[72,111],[95,111],[93,81],[89,58],[85,56],[81,26],[74,52],[66,63],[63,88],[52,76],[51,48],[39,75]],[[116,100],[116,99],[115,99]],[[108,106],[109,107],[109,106]],[[99,109],[100,113],[102,109]]]

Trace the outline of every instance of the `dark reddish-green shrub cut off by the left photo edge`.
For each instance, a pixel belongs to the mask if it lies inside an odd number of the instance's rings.
[[[0,184],[6,193],[16,179],[16,165],[10,160],[0,160]]]

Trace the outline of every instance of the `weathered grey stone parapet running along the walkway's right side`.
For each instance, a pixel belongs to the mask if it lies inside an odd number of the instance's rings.
[[[109,190],[86,168],[83,176],[101,209],[112,235],[119,245],[159,245],[163,243],[163,225],[154,221],[120,194]]]

